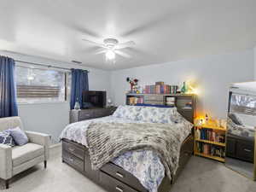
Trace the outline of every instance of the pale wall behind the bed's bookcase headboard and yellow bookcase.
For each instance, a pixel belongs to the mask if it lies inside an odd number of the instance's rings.
[[[139,79],[141,85],[156,81],[180,85],[184,80],[195,80],[200,90],[198,112],[225,118],[230,83],[253,80],[253,49],[114,71],[111,73],[111,89],[116,104],[125,103],[125,91],[129,90],[126,77]]]

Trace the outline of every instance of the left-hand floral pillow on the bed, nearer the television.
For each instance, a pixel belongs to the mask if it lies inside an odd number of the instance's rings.
[[[138,120],[138,115],[141,110],[142,110],[142,107],[138,107],[138,106],[130,106],[130,105],[121,106],[120,105],[113,113],[113,117]]]

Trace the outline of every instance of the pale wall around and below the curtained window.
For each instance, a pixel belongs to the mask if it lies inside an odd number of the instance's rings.
[[[0,51],[0,55],[7,55],[20,61],[32,61],[67,68],[74,67],[88,69],[90,71],[90,90],[106,90],[108,95],[110,93],[110,73],[107,71],[91,67],[81,67],[79,65],[61,61],[52,61],[42,57],[11,54],[5,51]],[[19,65],[19,62],[16,62],[16,65]],[[54,141],[58,140],[61,130],[63,130],[69,122],[69,102],[19,104],[18,108],[19,116],[21,117],[26,130],[48,133],[53,137]]]

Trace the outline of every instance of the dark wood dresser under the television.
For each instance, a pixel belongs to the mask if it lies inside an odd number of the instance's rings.
[[[69,123],[75,123],[81,120],[106,117],[115,111],[116,108],[89,108],[82,110],[71,110],[69,113]]]

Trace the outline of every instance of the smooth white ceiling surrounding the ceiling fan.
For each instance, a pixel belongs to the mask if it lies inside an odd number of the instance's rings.
[[[137,67],[252,48],[255,0],[1,0],[0,49],[102,69]],[[132,40],[105,63],[88,38]]]

